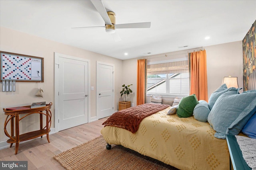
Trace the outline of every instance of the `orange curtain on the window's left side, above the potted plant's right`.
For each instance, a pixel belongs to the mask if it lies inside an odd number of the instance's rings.
[[[145,78],[146,78],[146,59],[137,61],[137,106],[146,102],[145,98]]]

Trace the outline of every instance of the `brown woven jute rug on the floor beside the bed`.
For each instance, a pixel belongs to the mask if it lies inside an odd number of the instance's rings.
[[[54,158],[67,170],[178,170],[120,145],[107,150],[102,136]]]

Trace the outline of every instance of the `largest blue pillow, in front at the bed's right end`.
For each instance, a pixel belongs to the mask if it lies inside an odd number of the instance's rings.
[[[233,91],[222,94],[208,115],[216,138],[225,139],[226,134],[238,135],[256,112],[256,92],[233,94]]]

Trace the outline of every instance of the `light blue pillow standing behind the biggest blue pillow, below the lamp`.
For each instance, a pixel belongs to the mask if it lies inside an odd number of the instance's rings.
[[[214,106],[216,100],[218,99],[218,97],[220,97],[220,95],[222,95],[230,90],[232,90],[233,94],[238,94],[238,92],[239,92],[238,88],[234,88],[234,87],[227,88],[226,84],[222,84],[217,90],[215,90],[211,94],[209,101],[208,101],[209,109],[210,110],[212,109],[212,107]]]

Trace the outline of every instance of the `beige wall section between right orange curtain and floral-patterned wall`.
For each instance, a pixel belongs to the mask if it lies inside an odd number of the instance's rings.
[[[204,47],[207,55],[208,98],[221,84],[223,77],[238,77],[238,86],[243,87],[242,40]],[[240,93],[242,90],[240,90]]]

